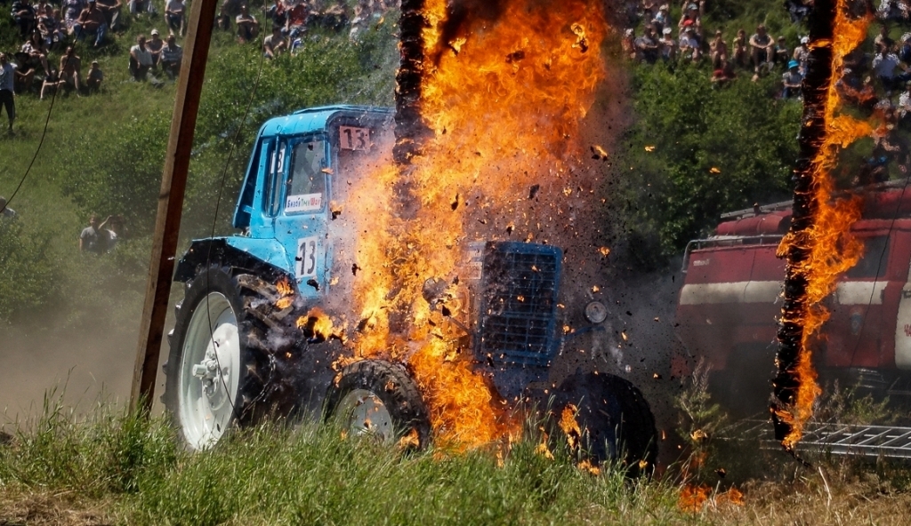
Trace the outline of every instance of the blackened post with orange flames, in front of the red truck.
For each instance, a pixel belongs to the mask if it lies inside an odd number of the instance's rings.
[[[814,4],[810,17],[811,52],[804,78],[804,125],[801,157],[794,172],[793,219],[778,249],[787,258],[782,317],[773,381],[775,438],[793,452],[820,393],[812,348],[828,311],[822,302],[835,280],[862,255],[861,242],[849,229],[860,218],[858,198],[834,196],[831,170],[841,148],[870,134],[872,127],[839,113],[835,86],[844,56],[863,42],[872,13],[851,15],[848,0]]]

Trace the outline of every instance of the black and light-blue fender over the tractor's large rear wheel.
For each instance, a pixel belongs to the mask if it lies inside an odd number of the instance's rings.
[[[234,268],[234,273],[251,274],[271,283],[282,277],[294,283],[287,254],[278,241],[241,237],[194,240],[177,264],[174,281],[189,283],[212,264]]]

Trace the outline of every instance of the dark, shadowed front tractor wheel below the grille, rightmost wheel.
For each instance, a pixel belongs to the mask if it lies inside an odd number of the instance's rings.
[[[577,373],[554,391],[553,408],[573,404],[578,412],[580,447],[600,464],[619,460],[631,475],[649,473],[658,460],[655,418],[649,402],[626,379],[610,374]],[[557,415],[559,418],[560,415]]]

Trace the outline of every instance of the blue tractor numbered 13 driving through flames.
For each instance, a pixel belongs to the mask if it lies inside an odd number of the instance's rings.
[[[185,296],[169,333],[163,400],[189,449],[267,414],[341,418],[354,434],[407,435],[418,447],[431,440],[407,363],[365,359],[334,370],[350,351],[308,318],[314,308],[349,307],[357,268],[343,256],[352,238],[343,205],[365,163],[391,145],[392,129],[392,110],[363,106],[304,109],[261,127],[234,212],[240,233],[193,241],[175,272]],[[482,239],[464,258],[463,308],[447,306],[441,279],[427,278],[423,296],[460,331],[476,371],[511,403],[573,404],[594,460],[625,451],[636,465],[653,464],[654,418],[640,390],[561,364],[570,339],[608,332],[608,308],[590,298],[564,334],[561,249]]]

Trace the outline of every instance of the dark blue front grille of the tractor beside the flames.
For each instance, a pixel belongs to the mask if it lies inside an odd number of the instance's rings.
[[[556,346],[563,252],[532,243],[487,243],[480,288],[479,358],[546,366]]]

